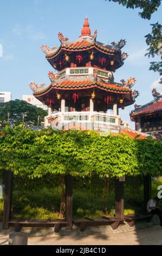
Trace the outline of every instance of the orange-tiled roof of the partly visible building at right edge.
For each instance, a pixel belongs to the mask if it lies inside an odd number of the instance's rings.
[[[162,95],[154,94],[154,100],[151,102],[146,103],[142,106],[137,106],[134,111],[131,112],[131,118],[134,119],[135,117],[142,116],[142,115],[150,115],[154,113],[162,112]]]

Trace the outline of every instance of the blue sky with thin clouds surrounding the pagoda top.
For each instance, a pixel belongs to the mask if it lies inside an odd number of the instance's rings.
[[[135,77],[134,89],[140,96],[136,103],[143,105],[152,100],[151,88],[158,84],[159,75],[149,71],[149,60],[144,36],[151,32],[150,23],[161,23],[162,7],[150,21],[141,19],[139,10],[122,7],[105,0],[3,0],[0,5],[0,90],[12,93],[12,99],[22,99],[22,94],[31,94],[30,82],[50,83],[48,71],[53,68],[40,50],[41,45],[59,46],[57,33],[62,32],[69,40],[81,34],[87,15],[92,34],[98,29],[97,40],[105,44],[126,39],[123,51],[129,54],[125,64],[114,73],[116,82],[122,78]],[[158,60],[158,57],[157,57]],[[122,120],[129,121],[133,105],[120,111]],[[134,123],[129,122],[131,126]]]

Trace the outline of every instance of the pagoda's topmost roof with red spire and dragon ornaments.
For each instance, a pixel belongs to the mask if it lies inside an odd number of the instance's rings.
[[[86,51],[90,52],[91,50],[95,55],[93,61],[99,61],[99,58],[108,57],[109,61],[106,62],[107,66],[108,63],[111,63],[111,61],[115,61],[114,66],[113,64],[111,64],[112,71],[120,68],[124,64],[124,60],[128,57],[127,53],[121,53],[121,48],[125,46],[126,41],[121,39],[118,43],[112,42],[112,45],[107,45],[103,44],[102,42],[96,41],[96,30],[93,35],[91,35],[90,33],[91,32],[89,28],[88,19],[86,18],[85,23],[83,24],[81,35],[77,40],[70,41],[67,37],[64,37],[61,32],[59,32],[58,36],[61,42],[59,48],[55,46],[49,48],[47,45],[42,45],[41,49],[44,53],[46,53],[46,59],[52,66],[54,66],[54,64],[56,65],[57,62],[62,62],[64,66],[67,66],[69,64],[69,61],[64,58],[66,54],[71,54],[73,52],[85,52],[85,54],[88,54]],[[102,57],[100,57],[100,55]],[[61,67],[58,68],[57,65],[56,69],[61,70]]]

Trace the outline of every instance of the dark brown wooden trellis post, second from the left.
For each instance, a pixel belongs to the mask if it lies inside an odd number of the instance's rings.
[[[66,177],[66,205],[65,205],[65,219],[68,222],[67,229],[72,229],[73,226],[73,177],[67,175]]]

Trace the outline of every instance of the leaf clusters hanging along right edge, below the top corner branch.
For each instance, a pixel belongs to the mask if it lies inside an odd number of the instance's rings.
[[[150,46],[147,49],[146,55],[148,57],[154,57],[155,55],[159,55],[160,59],[162,60],[162,25],[158,22],[155,24],[151,24],[152,32],[145,36],[146,44]],[[154,72],[158,71],[159,75],[162,75],[162,61],[160,62],[151,62],[150,63],[150,70]],[[162,83],[162,80],[160,80]]]

